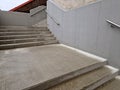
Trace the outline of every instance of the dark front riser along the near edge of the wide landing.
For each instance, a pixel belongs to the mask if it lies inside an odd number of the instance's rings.
[[[99,62],[99,63],[95,63],[93,65],[89,65],[87,67],[84,67],[82,69],[78,69],[78,70],[75,70],[75,71],[72,71],[70,73],[67,73],[67,74],[64,74],[63,76],[58,76],[58,77],[55,77],[51,80],[46,80],[45,82],[43,83],[38,83],[38,84],[35,84],[35,85],[32,85],[32,86],[29,86],[28,88],[25,88],[23,90],[34,90],[36,87],[40,90],[45,90],[45,89],[48,89],[54,85],[57,85],[59,83],[62,83],[63,81],[67,81],[69,79],[72,79],[74,77],[77,77],[79,75],[82,75],[84,73],[87,73],[89,71],[92,71],[92,70],[95,70],[97,68],[100,68],[102,66],[106,65],[106,61],[102,61],[102,62]],[[62,79],[61,79],[62,78]],[[55,80],[56,79],[56,80]],[[56,83],[57,82],[57,83]],[[46,83],[50,83],[49,85],[46,85]],[[36,90],[36,89],[35,89]]]

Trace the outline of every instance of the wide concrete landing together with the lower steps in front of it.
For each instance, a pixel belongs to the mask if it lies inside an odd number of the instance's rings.
[[[13,30],[13,29],[12,29]],[[0,90],[119,90],[107,60],[53,44],[0,52]]]

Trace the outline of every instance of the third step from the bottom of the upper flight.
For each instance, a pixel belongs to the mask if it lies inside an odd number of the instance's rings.
[[[6,39],[20,39],[20,38],[41,38],[41,37],[53,37],[52,34],[31,34],[31,35],[7,35],[7,36],[0,36],[0,40]]]

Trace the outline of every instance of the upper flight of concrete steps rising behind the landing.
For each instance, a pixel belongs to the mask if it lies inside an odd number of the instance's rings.
[[[56,43],[58,41],[46,27],[0,27],[0,50]]]

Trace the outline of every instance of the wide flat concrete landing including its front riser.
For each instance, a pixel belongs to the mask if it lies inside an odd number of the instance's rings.
[[[44,90],[105,63],[60,44],[0,51],[0,90]]]

